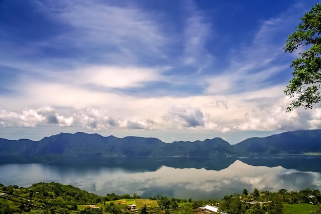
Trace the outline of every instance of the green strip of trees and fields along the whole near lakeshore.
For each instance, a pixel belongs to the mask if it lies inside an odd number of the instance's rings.
[[[225,196],[222,200],[192,200],[177,199],[164,196],[150,198],[153,207],[137,207],[135,212],[126,209],[126,203],[117,203],[118,200],[135,201],[138,194],[124,194],[118,196],[115,193],[106,196],[97,196],[71,185],[60,183],[33,184],[24,188],[15,185],[5,186],[0,184],[0,214],[30,213],[170,213],[192,214],[199,211],[199,207],[211,205],[217,206],[220,213],[231,214],[282,214],[285,204],[307,203],[315,205],[312,214],[321,214],[320,190],[287,191],[280,189],[277,192],[259,191],[254,189],[249,193],[244,189],[242,194],[235,193]],[[126,200],[125,200],[126,201]],[[155,202],[155,203],[154,203]],[[99,208],[80,205],[97,205]]]

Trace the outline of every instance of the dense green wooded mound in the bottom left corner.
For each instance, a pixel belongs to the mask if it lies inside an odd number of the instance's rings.
[[[78,204],[95,204],[103,197],[59,183],[37,183],[23,188],[0,184],[0,213],[72,213]]]

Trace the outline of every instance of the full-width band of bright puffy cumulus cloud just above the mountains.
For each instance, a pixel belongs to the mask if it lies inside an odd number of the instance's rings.
[[[110,105],[104,111],[98,108],[70,108],[67,112],[54,108],[10,111],[2,107],[0,125],[35,127],[51,124],[94,131],[193,129],[228,132],[321,128],[320,106],[315,106],[313,110],[297,109],[286,113],[290,100],[283,96],[274,97],[274,93],[269,89],[269,92],[263,90],[229,97],[141,99],[136,100],[135,105],[127,103],[123,110]],[[262,94],[265,96],[260,96]],[[113,100],[110,102],[112,104]]]

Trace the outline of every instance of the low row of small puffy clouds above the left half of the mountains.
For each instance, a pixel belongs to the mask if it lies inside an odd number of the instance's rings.
[[[27,109],[8,111],[0,108],[0,125],[2,127],[35,127],[40,124],[58,124],[61,127],[81,126],[87,130],[122,129],[155,129],[156,123],[147,119],[118,119],[101,113],[98,109],[72,109],[70,116],[57,113],[53,108]]]

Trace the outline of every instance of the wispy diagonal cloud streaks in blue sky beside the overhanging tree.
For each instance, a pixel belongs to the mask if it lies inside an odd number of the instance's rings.
[[[284,53],[287,36],[295,30],[306,8],[293,5],[277,17],[259,20],[251,43],[231,49],[230,66],[219,75],[203,77],[208,94],[236,94],[269,88],[289,80],[292,55]],[[285,75],[287,72],[289,75]]]

